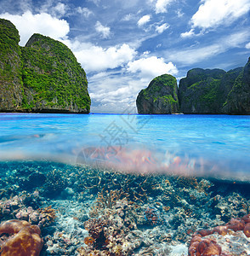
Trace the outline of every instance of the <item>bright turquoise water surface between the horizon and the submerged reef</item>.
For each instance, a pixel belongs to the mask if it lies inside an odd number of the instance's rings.
[[[0,160],[250,179],[250,117],[1,113]]]

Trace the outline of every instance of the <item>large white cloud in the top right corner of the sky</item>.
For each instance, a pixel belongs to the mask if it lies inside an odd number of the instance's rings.
[[[250,9],[249,0],[203,0],[191,18],[193,27],[207,29],[221,24],[230,24]]]

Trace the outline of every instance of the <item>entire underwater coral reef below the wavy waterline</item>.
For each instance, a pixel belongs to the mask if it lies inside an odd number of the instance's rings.
[[[35,161],[0,171],[1,255],[250,252],[246,183]]]

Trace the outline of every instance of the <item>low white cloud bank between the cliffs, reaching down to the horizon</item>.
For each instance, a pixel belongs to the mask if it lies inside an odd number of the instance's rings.
[[[88,79],[91,111],[122,113],[128,109],[136,113],[135,100],[139,91],[148,86],[156,76],[177,72],[172,62],[165,63],[162,58],[152,56],[128,62],[123,73],[98,73]]]

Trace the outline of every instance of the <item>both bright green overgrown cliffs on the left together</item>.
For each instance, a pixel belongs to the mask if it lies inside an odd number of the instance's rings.
[[[86,73],[71,49],[40,34],[20,47],[11,22],[0,19],[0,29],[0,111],[89,113]]]

